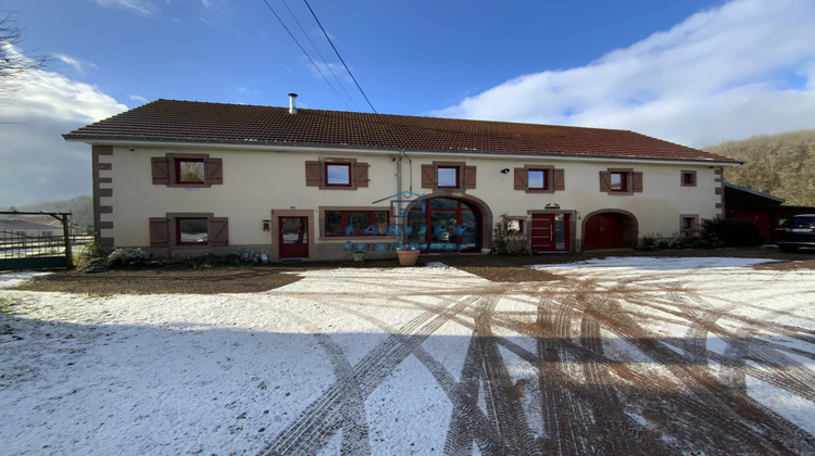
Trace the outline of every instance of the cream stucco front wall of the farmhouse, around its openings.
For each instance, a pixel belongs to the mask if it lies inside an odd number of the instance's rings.
[[[167,153],[203,153],[223,160],[223,185],[209,188],[179,188],[153,185],[151,157]],[[167,213],[212,213],[229,219],[229,249],[271,249],[273,233],[263,230],[263,220],[271,218],[273,210],[314,211],[318,225],[318,208],[326,206],[373,206],[373,202],[396,194],[397,172],[400,164],[396,151],[319,150],[251,150],[238,148],[167,148],[152,145],[117,145],[113,154],[100,157],[110,163],[110,170],[100,177],[112,182],[101,183],[112,189],[110,197],[100,198],[99,204],[113,207],[101,214],[102,221],[111,221],[112,229],[102,230],[102,237],[114,238],[116,246],[149,246],[149,218]],[[648,161],[601,161],[587,159],[532,159],[517,156],[471,156],[452,154],[409,153],[401,160],[401,190],[431,193],[422,188],[422,165],[434,161],[466,162],[476,167],[476,188],[454,192],[484,201],[498,219],[502,214],[525,216],[528,211],[543,210],[548,203],[559,204],[562,211],[574,211],[577,220],[575,236],[579,245],[582,237],[580,220],[600,210],[622,210],[634,214],[638,221],[638,237],[644,235],[670,236],[680,230],[679,215],[699,215],[713,218],[720,214],[716,207],[722,197],[716,194],[720,180],[715,166],[699,163],[653,163]],[[319,159],[356,159],[367,163],[367,188],[356,190],[324,190],[306,187],[306,161]],[[565,190],[555,193],[526,193],[514,190],[515,167],[542,165],[563,168]],[[630,195],[609,195],[600,191],[599,172],[607,168],[632,168],[643,174],[643,192]],[[501,169],[510,168],[509,174]],[[697,186],[680,186],[681,170],[697,172]],[[412,176],[412,180],[411,180]],[[387,201],[378,206],[389,208]],[[484,229],[491,229],[485,227]],[[319,227],[314,227],[315,238]],[[344,239],[315,239],[312,256],[349,256],[342,252]],[[189,249],[176,251],[185,253]],[[174,253],[174,252],[171,252]],[[192,251],[195,253],[195,251]]]

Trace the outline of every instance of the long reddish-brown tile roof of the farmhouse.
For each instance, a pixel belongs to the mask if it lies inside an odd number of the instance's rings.
[[[64,135],[101,142],[297,144],[738,163],[627,130],[156,100]]]

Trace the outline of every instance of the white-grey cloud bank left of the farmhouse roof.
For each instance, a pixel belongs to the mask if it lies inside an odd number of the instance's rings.
[[[99,88],[36,69],[0,103],[0,206],[90,194],[90,148],[62,134],[127,110]]]

